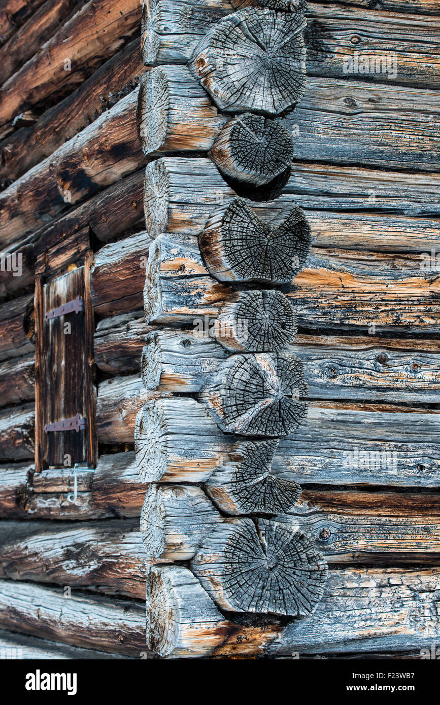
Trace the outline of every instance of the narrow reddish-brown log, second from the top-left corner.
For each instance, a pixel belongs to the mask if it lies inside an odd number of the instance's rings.
[[[50,39],[57,26],[66,21],[75,8],[75,0],[44,2],[0,49],[0,85],[37,54],[42,44]],[[1,31],[1,30],[0,30]]]

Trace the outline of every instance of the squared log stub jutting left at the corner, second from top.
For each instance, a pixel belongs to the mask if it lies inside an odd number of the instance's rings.
[[[158,66],[142,77],[138,130],[145,154],[206,152],[224,123],[185,66]]]

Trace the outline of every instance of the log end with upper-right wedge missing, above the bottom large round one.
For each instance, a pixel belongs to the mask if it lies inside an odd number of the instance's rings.
[[[276,477],[271,462],[279,440],[244,441],[207,480],[207,493],[228,514],[284,514],[300,497],[300,485]]]

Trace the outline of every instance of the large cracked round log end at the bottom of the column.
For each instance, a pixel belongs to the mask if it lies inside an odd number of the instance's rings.
[[[220,607],[307,616],[324,593],[327,566],[298,526],[233,520],[204,537],[191,568]]]

